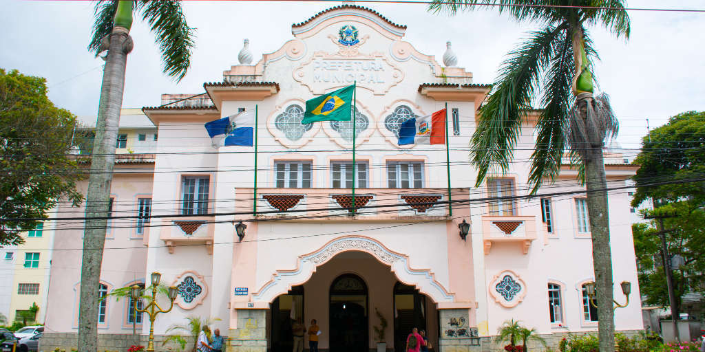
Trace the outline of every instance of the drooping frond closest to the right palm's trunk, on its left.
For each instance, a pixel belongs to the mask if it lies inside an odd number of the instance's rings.
[[[556,180],[563,153],[566,149],[565,124],[568,122],[569,107],[575,100],[570,94],[572,82],[572,46],[570,34],[563,31],[556,37],[551,54],[551,68],[544,77],[544,94],[541,98],[542,111],[537,120],[537,139],[531,156],[529,172],[531,194],[536,194],[548,177]]]

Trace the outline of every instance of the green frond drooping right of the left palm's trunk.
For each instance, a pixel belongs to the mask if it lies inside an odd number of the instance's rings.
[[[160,0],[137,3],[152,32],[157,36],[164,73],[180,81],[191,63],[195,29],[188,26],[180,1]]]

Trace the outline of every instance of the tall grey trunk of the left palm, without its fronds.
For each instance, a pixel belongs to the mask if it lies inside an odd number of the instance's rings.
[[[125,65],[133,46],[129,31],[123,27],[114,27],[109,41],[86,196],[87,219],[81,262],[78,351],[98,350],[98,289],[108,222],[105,218],[109,210],[118,122],[123,103]]]

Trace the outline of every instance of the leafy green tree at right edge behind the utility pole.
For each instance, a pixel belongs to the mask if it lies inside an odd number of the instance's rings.
[[[668,253],[684,259],[683,265],[673,270],[673,312],[680,311],[686,293],[705,293],[705,182],[689,181],[705,175],[704,146],[705,111],[687,111],[651,130],[642,139],[642,150],[635,159],[639,170],[634,177],[637,191],[632,206],[653,201],[654,213],[673,216],[663,220],[668,230]],[[671,180],[682,183],[661,184]],[[632,226],[639,287],[647,304],[670,306],[657,229],[653,221]]]

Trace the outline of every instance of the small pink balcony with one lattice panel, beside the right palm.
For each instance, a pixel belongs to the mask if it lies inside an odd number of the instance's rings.
[[[483,216],[482,236],[484,253],[489,254],[493,244],[516,243],[524,254],[529,253],[536,239],[536,217],[534,216]]]

